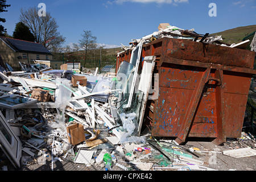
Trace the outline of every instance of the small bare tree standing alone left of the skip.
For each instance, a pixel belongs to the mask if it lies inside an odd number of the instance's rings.
[[[82,39],[79,40],[80,47],[84,49],[85,56],[84,56],[84,67],[85,67],[85,60],[87,59],[88,51],[95,49],[97,47],[96,36],[92,35],[92,31],[84,30],[84,34],[81,35]]]

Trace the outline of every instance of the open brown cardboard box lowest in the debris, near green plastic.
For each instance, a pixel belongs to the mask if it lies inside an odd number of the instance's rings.
[[[68,142],[75,146],[85,141],[84,126],[79,123],[67,127]]]

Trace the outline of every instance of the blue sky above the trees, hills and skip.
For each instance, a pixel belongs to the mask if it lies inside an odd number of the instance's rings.
[[[13,35],[19,22],[20,8],[46,4],[65,36],[63,46],[77,43],[83,30],[90,30],[97,43],[106,47],[129,45],[158,31],[160,23],[170,23],[183,29],[195,28],[200,34],[256,24],[256,0],[7,0],[3,26]],[[208,7],[216,3],[217,16],[210,17]]]

